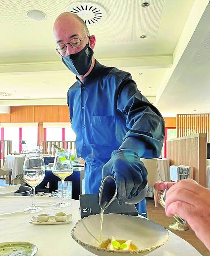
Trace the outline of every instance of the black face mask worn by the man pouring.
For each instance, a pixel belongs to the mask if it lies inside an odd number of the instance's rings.
[[[89,71],[93,54],[93,50],[87,44],[84,49],[76,54],[62,56],[62,61],[75,75],[84,76]]]

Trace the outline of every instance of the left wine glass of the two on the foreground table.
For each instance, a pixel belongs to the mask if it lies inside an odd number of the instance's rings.
[[[32,187],[33,200],[32,206],[27,207],[23,211],[26,212],[38,212],[41,211],[41,207],[36,207],[34,203],[35,188],[45,178],[45,162],[41,154],[27,154],[23,164],[23,178],[27,184]]]

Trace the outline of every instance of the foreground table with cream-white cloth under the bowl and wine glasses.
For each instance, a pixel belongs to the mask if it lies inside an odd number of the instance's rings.
[[[70,207],[54,207],[58,198],[36,197],[35,205],[43,207],[39,213],[26,213],[22,209],[31,206],[31,197],[0,198],[0,243],[26,241],[38,247],[36,256],[94,256],[71,238],[71,229],[80,219],[79,201],[71,202]],[[60,225],[33,225],[32,216],[41,213],[54,215],[63,211],[72,214],[72,223]],[[140,217],[140,216],[139,216]],[[99,232],[99,230],[98,230]],[[149,256],[201,256],[197,250],[182,238],[169,231],[170,238],[165,245],[148,254]]]

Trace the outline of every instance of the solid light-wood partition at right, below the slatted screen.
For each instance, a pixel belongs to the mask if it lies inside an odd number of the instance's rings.
[[[170,139],[166,143],[170,165],[190,166],[190,178],[206,187],[206,134]]]

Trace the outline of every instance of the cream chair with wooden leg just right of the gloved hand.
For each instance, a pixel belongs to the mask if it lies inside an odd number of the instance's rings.
[[[157,191],[154,189],[154,184],[157,181],[161,181],[161,176],[158,170],[158,165],[157,165],[157,159],[146,159],[146,158],[141,158],[140,159],[144,166],[147,169],[148,175],[147,175],[147,184],[148,187],[152,186],[153,187],[153,194],[154,194],[154,202],[155,202],[155,207],[158,207],[157,204]]]

